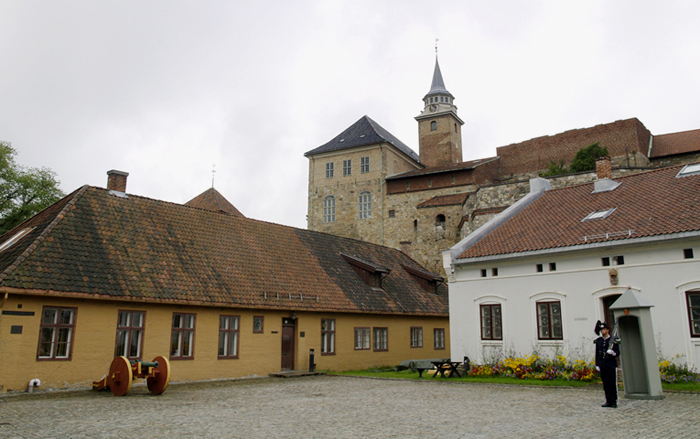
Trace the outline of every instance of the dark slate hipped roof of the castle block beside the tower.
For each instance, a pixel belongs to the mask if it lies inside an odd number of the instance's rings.
[[[333,140],[306,152],[304,155],[310,157],[324,152],[340,151],[384,142],[394,145],[399,151],[406,154],[415,162],[420,163],[418,154],[368,116],[362,116],[360,120],[338,134]]]

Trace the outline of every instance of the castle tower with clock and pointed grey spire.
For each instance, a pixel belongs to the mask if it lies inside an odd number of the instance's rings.
[[[433,83],[423,102],[425,107],[416,116],[421,162],[428,167],[461,163],[464,122],[457,116],[454,96],[445,88],[437,56]]]

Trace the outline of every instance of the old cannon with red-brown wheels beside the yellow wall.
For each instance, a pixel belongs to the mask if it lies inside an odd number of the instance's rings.
[[[146,378],[148,390],[160,395],[170,382],[170,362],[165,357],[153,361],[134,361],[126,357],[115,357],[109,366],[109,373],[100,381],[92,383],[93,390],[109,388],[114,396],[124,396],[131,390],[134,378]]]

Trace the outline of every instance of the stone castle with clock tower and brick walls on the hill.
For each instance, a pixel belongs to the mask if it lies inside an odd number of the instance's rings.
[[[632,118],[502,146],[495,157],[463,162],[463,121],[454,101],[436,60],[416,116],[419,154],[367,116],[308,151],[308,229],[402,249],[444,276],[442,251],[525,196],[529,180],[550,163],[568,164],[581,148],[596,142],[607,148],[616,177],[700,159],[700,130],[654,136]],[[591,171],[550,181],[563,187],[595,179]]]

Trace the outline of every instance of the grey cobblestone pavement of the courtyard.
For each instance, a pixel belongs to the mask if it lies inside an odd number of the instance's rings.
[[[2,438],[690,438],[700,395],[317,376],[0,397]]]

